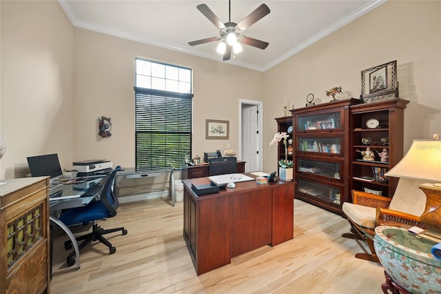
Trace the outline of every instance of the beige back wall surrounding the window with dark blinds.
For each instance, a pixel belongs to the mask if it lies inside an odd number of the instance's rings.
[[[193,70],[193,154],[238,150],[238,99],[263,99],[263,72],[231,66],[75,29],[74,45],[74,159],[111,159],[134,166],[135,57],[165,61]],[[98,135],[97,117],[111,117],[112,136]],[[205,140],[205,119],[227,120],[229,140]]]

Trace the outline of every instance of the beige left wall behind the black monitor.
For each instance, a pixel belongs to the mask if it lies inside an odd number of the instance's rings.
[[[23,177],[26,157],[73,154],[74,29],[57,1],[0,1],[0,178]]]

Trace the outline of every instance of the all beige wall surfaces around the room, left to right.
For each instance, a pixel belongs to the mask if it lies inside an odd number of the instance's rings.
[[[74,160],[111,159],[134,165],[134,58],[194,70],[194,155],[238,150],[238,99],[263,101],[265,171],[276,169],[274,117],[286,97],[296,108],[312,92],[342,86],[358,97],[360,71],[398,61],[405,112],[404,148],[441,133],[441,1],[388,1],[267,72],[73,28],[57,1],[0,1],[1,119],[8,151],[0,178],[28,172],[25,157],[59,153]],[[97,119],[112,119],[112,137],[97,135]],[[230,121],[230,139],[205,140],[205,119]]]

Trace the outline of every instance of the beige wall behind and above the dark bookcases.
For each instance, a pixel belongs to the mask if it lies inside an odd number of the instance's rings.
[[[441,1],[387,1],[347,26],[265,72],[263,165],[276,170],[276,133],[284,97],[294,108],[306,96],[329,101],[325,91],[342,86],[343,97],[360,96],[360,72],[397,60],[404,112],[404,150],[412,139],[441,133]],[[270,100],[274,103],[268,103]],[[317,102],[316,102],[317,103]]]

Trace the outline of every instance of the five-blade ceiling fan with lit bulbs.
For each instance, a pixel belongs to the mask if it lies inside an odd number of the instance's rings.
[[[260,41],[252,37],[241,35],[241,33],[252,24],[256,23],[259,19],[269,14],[269,8],[265,4],[260,5],[256,10],[248,14],[245,19],[240,23],[234,23],[231,21],[231,0],[229,1],[229,17],[227,23],[222,23],[220,19],[208,8],[206,4],[199,4],[196,8],[202,12],[202,14],[211,21],[216,28],[218,28],[220,34],[217,37],[209,37],[197,41],[188,42],[189,46],[195,46],[203,43],[209,43],[213,41],[220,41],[217,52],[223,54],[223,60],[229,60],[232,55],[242,51],[240,43],[247,44],[260,49],[265,49],[269,43]]]

